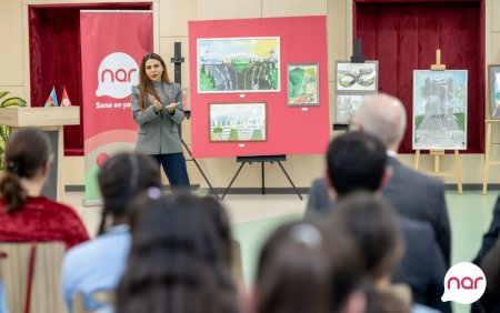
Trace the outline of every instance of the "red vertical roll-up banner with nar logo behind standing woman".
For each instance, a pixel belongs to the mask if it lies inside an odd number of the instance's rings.
[[[80,11],[86,201],[100,199],[100,164],[133,150],[137,125],[130,109],[142,55],[152,51],[151,11]]]

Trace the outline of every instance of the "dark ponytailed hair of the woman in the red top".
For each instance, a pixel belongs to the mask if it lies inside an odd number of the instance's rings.
[[[7,212],[11,213],[19,210],[28,199],[20,178],[32,179],[43,166],[48,166],[50,141],[39,130],[17,130],[7,142],[4,158],[6,171],[0,179],[0,194],[7,202]]]

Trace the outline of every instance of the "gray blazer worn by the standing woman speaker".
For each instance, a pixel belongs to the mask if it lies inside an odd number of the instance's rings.
[[[179,102],[173,115],[167,111],[163,114],[153,110],[152,103],[146,99],[146,110],[139,109],[139,87],[132,87],[132,115],[139,125],[137,130],[136,151],[144,154],[168,154],[181,152],[181,142],[179,138],[178,124],[184,119],[182,110],[182,90],[180,84],[163,83],[166,91],[166,101],[163,107],[172,102]]]

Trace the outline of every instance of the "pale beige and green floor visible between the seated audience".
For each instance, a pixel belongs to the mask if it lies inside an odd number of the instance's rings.
[[[93,235],[100,221],[99,206],[83,208],[83,193],[67,193],[66,202],[77,208],[89,233]],[[482,195],[480,191],[468,191],[462,195],[447,192],[447,203],[452,228],[452,263],[470,261],[476,255],[481,235],[491,221],[491,212],[498,192]],[[227,208],[233,225],[233,234],[241,244],[243,274],[250,282],[260,245],[278,225],[300,219],[307,203],[296,194],[244,194],[226,196]],[[468,312],[468,305],[456,305],[454,312]]]

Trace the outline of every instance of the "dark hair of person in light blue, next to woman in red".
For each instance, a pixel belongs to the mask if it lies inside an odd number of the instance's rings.
[[[108,159],[99,171],[98,181],[104,204],[99,234],[106,231],[108,214],[123,216],[130,199],[148,188],[161,185],[157,162],[136,152],[122,152]]]

